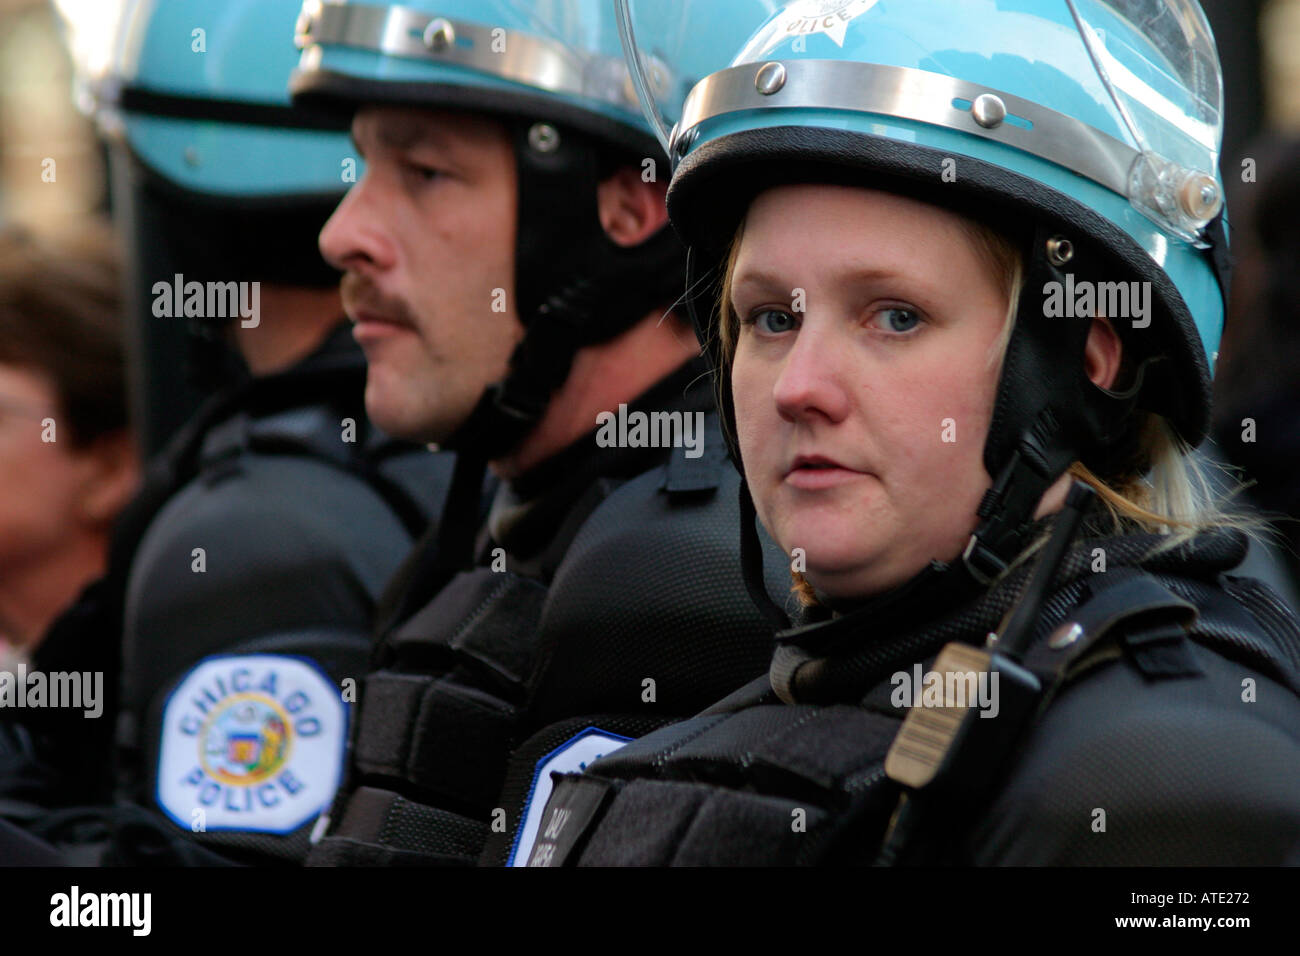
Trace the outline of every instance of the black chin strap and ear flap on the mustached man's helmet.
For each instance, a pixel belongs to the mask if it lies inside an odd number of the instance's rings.
[[[597,199],[601,151],[590,139],[537,122],[516,124],[512,137],[519,170],[515,294],[524,337],[507,376],[484,389],[469,418],[443,442],[456,451],[438,528],[439,574],[448,579],[473,562],[488,462],[514,451],[537,427],[581,349],[627,332],[672,302],[684,284],[684,248],[667,226],[633,247],[604,232]]]

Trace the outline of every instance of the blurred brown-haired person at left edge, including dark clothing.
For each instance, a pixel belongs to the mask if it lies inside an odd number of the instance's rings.
[[[0,234],[0,671],[104,674],[114,635],[83,632],[103,600],[114,519],[139,466],[126,411],[120,261],[107,225]],[[103,709],[103,683],[96,705]],[[0,708],[0,814],[29,823],[99,761],[110,715]]]

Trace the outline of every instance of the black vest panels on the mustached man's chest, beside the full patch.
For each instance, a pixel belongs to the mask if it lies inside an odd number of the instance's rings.
[[[394,670],[365,678],[355,769],[407,780],[430,803],[490,809],[545,596],[536,581],[478,568],[403,624],[390,639]]]

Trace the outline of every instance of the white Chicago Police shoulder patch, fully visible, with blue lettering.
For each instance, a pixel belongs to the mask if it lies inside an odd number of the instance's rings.
[[[347,711],[311,661],[209,657],[162,711],[157,801],[185,829],[292,832],[338,787]],[[200,813],[196,813],[202,810]]]

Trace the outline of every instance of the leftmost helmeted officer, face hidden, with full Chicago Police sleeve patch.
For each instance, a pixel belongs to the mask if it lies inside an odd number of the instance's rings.
[[[289,101],[296,16],[134,3],[101,90],[134,238],[138,407],[183,402],[159,385],[187,358],[178,330],[220,385],[151,463],[104,605],[74,628],[122,636],[116,792],[135,809],[105,812],[116,862],[304,856],[380,592],[450,481],[447,457],[365,416],[364,356],[315,247],[358,160]],[[103,799],[99,769],[69,769],[75,792],[55,799]]]

